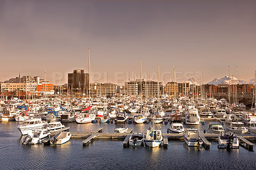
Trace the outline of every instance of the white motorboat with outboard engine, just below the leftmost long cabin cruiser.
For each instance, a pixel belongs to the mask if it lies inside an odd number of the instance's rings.
[[[50,137],[50,132],[46,129],[33,129],[28,135],[23,137],[22,144],[38,144],[47,137]]]

